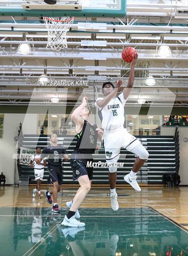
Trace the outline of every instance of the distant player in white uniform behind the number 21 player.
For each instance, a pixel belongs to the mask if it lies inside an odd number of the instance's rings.
[[[40,164],[37,164],[36,159],[40,159],[40,158],[41,158],[41,148],[37,147],[36,155],[32,155],[30,160],[30,166],[34,168],[34,177],[37,182],[36,188],[33,189],[33,197],[35,197],[36,192],[38,191],[38,197],[42,198],[42,194],[40,192],[40,184],[42,183],[42,180],[43,180],[44,166],[47,165],[47,162],[46,162],[46,159],[43,159]]]

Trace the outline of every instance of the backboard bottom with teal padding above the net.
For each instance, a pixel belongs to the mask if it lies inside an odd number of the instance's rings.
[[[124,17],[126,0],[1,0],[0,16]]]

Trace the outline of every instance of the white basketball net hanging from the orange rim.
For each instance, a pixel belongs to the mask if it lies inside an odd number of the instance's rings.
[[[59,51],[67,48],[66,34],[73,24],[74,17],[43,17],[48,31],[47,47]]]

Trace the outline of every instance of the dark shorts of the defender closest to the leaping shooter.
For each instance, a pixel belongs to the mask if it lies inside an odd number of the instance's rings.
[[[88,175],[89,180],[92,180],[93,178],[93,167],[86,167],[86,162],[82,161],[81,159],[73,159],[71,160],[71,167],[73,170],[73,180],[77,180],[79,177],[83,175]],[[87,160],[87,161],[92,161],[93,159]]]

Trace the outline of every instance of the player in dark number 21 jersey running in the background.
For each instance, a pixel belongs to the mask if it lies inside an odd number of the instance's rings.
[[[54,205],[52,211],[60,212],[60,208],[57,205],[57,193],[61,190],[62,184],[62,158],[67,162],[68,154],[63,146],[57,144],[56,133],[50,135],[50,141],[51,145],[43,149],[41,158],[48,158],[47,169],[54,186],[52,191],[46,191],[44,194],[49,204],[52,203],[51,195],[53,194]]]

